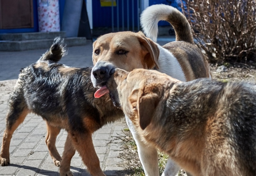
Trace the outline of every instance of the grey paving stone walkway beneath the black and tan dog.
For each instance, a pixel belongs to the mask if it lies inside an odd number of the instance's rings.
[[[50,47],[50,46],[49,46]],[[36,62],[46,51],[33,50],[22,52],[0,52],[0,144],[2,144],[5,129],[5,115],[7,100],[13,90],[20,68],[27,67]],[[62,58],[60,63],[72,67],[92,66],[92,43],[85,46],[68,48],[68,55]],[[102,170],[106,175],[118,175],[118,171],[124,170],[122,159],[118,158],[121,150],[121,141],[115,140],[114,136],[122,133],[127,128],[124,120],[114,124],[103,126],[93,134],[93,143],[100,159]],[[48,153],[45,144],[46,125],[40,116],[29,114],[25,121],[14,132],[10,146],[9,166],[0,166],[0,175],[5,176],[57,176],[59,168],[56,167]],[[56,146],[61,154],[64,149],[67,132],[61,130],[58,135]],[[75,176],[90,175],[86,172],[78,153],[71,161],[71,171]]]

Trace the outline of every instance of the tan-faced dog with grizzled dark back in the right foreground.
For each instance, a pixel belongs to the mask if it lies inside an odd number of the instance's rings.
[[[255,83],[181,82],[146,69],[112,73],[104,91],[144,142],[192,175],[256,175]]]

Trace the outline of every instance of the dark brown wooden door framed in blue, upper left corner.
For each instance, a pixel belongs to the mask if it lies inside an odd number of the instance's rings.
[[[33,27],[33,0],[0,0],[0,29]]]

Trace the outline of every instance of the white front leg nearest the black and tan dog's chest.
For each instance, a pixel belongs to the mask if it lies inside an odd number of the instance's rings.
[[[144,144],[139,134],[136,132],[132,121],[129,117],[125,116],[126,123],[132,133],[133,139],[136,142],[138,148],[138,154],[140,158],[140,162],[144,169],[146,176],[157,176],[159,175],[159,168],[158,168],[158,154],[155,147],[149,146]],[[176,172],[177,173],[177,172]]]

